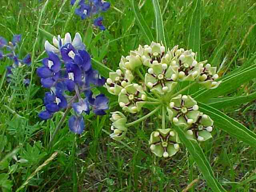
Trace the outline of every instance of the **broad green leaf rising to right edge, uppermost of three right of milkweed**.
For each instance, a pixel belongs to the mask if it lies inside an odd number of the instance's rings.
[[[194,96],[197,101],[208,102],[210,98],[216,98],[236,90],[243,83],[255,78],[255,74],[256,64],[246,70],[242,70],[242,72],[238,72],[232,76],[228,76],[227,78],[222,78],[222,83],[218,88],[208,90],[202,89],[194,93],[192,96]]]

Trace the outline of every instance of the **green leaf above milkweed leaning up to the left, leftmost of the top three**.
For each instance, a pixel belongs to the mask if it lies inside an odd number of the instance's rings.
[[[146,43],[151,44],[151,42],[154,41],[154,37],[150,31],[150,28],[146,24],[146,21],[144,20],[142,14],[140,14],[140,9],[138,7],[138,4],[135,3],[134,0],[132,0],[132,8],[133,8],[137,23],[140,29],[142,30],[142,32],[144,33]]]

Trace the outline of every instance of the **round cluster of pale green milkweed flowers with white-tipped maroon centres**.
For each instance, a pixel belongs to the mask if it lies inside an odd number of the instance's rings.
[[[135,114],[148,105],[156,107],[131,123],[127,123],[127,115],[114,112],[110,118],[113,131],[110,136],[121,140],[129,126],[160,111],[162,128],[152,132],[149,141],[156,156],[166,158],[179,150],[178,134],[172,128],[166,128],[166,122],[171,122],[170,127],[181,126],[188,139],[205,141],[211,138],[213,120],[199,111],[196,100],[182,95],[195,83],[207,89],[214,89],[220,84],[216,81],[216,67],[208,64],[207,60],[198,62],[195,57],[192,50],[179,49],[178,46],[170,50],[155,42],[150,46],[140,45],[137,50],[130,51],[130,55],[122,56],[119,69],[110,72],[106,80],[108,92],[118,96],[118,104],[124,112]],[[182,87],[179,83],[184,81],[191,83]]]

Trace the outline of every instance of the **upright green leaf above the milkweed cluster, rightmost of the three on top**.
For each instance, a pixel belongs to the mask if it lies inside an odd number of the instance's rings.
[[[196,1],[196,6],[192,14],[189,34],[188,49],[197,52],[197,60],[200,61],[200,28],[201,28],[201,0]]]

